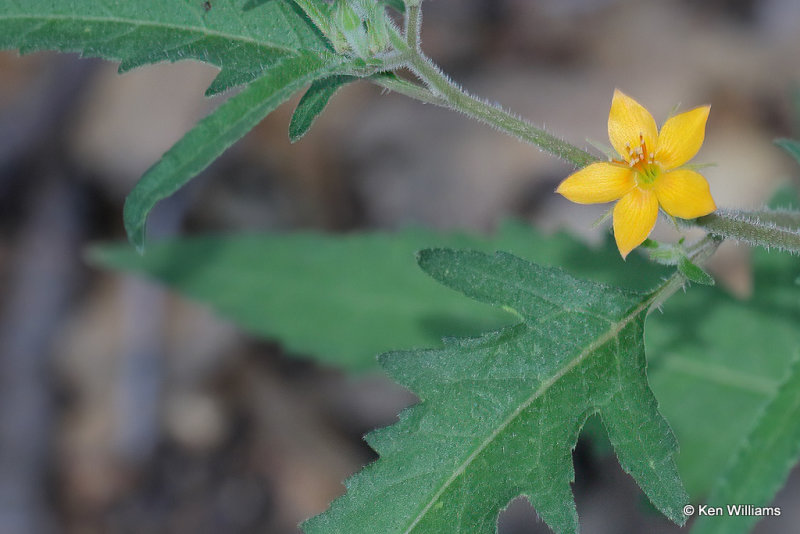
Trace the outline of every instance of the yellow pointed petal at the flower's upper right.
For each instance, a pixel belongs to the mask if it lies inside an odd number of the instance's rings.
[[[680,167],[697,154],[706,136],[706,121],[711,106],[703,106],[680,115],[675,115],[664,123],[658,134],[656,160],[665,169]]]

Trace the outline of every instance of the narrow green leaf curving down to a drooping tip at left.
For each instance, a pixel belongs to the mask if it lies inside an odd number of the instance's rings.
[[[180,189],[304,85],[341,64],[326,63],[312,54],[282,60],[201,120],[128,195],[123,218],[131,243],[140,250],[144,247],[147,215],[159,200]]]

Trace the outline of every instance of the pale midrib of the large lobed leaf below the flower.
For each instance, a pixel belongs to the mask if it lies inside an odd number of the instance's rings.
[[[420,521],[425,517],[428,511],[436,504],[436,501],[439,500],[447,488],[459,477],[461,476],[464,471],[467,470],[467,467],[499,436],[511,423],[516,420],[517,417],[522,414],[531,404],[533,404],[537,399],[539,399],[542,395],[547,393],[547,391],[561,378],[563,378],[568,372],[572,371],[578,365],[580,365],[584,360],[586,360],[592,353],[594,353],[597,349],[615,339],[619,333],[628,326],[631,321],[636,319],[642,312],[649,308],[650,304],[653,302],[654,296],[650,296],[649,298],[645,299],[641,302],[638,306],[633,308],[628,315],[626,315],[622,320],[616,323],[611,324],[611,328],[609,328],[605,334],[598,337],[594,342],[589,344],[578,356],[574,359],[570,360],[567,365],[562,367],[558,372],[556,372],[553,376],[542,382],[539,388],[533,392],[533,394],[525,399],[524,402],[520,403],[520,405],[511,412],[506,419],[504,419],[495,430],[489,434],[489,436],[481,442],[481,444],[473,451],[454,471],[453,474],[444,481],[444,483],[440,486],[440,488],[433,494],[433,496],[429,499],[428,503],[425,507],[420,511],[419,514],[414,518],[411,524],[406,528],[404,534],[411,534],[411,531],[419,524]]]

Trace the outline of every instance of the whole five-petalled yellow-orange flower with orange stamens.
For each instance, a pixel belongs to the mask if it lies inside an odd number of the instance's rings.
[[[681,166],[700,150],[710,110],[702,106],[676,115],[659,132],[649,111],[614,91],[608,138],[620,159],[584,167],[561,182],[556,192],[579,204],[618,200],[614,238],[623,258],[650,235],[659,206],[681,219],[708,215],[717,209],[708,182]]]

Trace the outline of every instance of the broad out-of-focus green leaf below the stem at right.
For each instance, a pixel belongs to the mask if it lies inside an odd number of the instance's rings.
[[[785,192],[772,206],[797,205]],[[800,347],[797,257],[753,250],[753,294],[693,287],[648,322],[649,375],[681,444],[678,468],[694,502],[711,491],[788,376]]]

